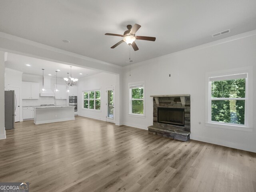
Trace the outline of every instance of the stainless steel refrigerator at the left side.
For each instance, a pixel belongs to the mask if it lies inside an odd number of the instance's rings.
[[[4,91],[5,130],[14,128],[14,116],[15,116],[14,91]]]

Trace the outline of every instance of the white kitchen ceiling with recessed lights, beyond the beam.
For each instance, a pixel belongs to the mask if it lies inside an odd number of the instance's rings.
[[[26,64],[29,64],[30,66],[26,66]],[[25,74],[40,76],[42,76],[43,73],[42,69],[44,69],[44,76],[48,76],[48,74],[56,76],[56,70],[60,70],[57,72],[57,77],[59,78],[67,77],[67,73],[69,73],[70,75],[70,65],[12,53],[7,54],[7,61],[5,62],[5,67],[21,71]],[[82,73],[82,75],[80,73]],[[74,78],[79,79],[97,73],[100,73],[100,71],[72,66],[72,77]]]

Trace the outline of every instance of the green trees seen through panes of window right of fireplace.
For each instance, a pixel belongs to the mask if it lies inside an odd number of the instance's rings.
[[[211,120],[245,124],[246,79],[211,82]]]

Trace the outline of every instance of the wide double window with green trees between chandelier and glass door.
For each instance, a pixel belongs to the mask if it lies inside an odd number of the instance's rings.
[[[100,110],[100,90],[84,91],[84,109]]]

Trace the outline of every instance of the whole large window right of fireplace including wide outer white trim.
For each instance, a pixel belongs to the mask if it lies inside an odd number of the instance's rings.
[[[206,126],[253,131],[253,68],[206,73]]]

